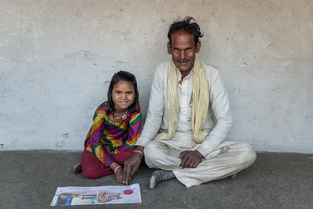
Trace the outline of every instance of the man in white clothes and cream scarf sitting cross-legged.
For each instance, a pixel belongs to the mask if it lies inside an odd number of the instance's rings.
[[[124,162],[123,183],[128,186],[143,155],[150,168],[160,169],[151,175],[151,189],[172,178],[189,188],[234,177],[256,154],[249,144],[223,142],[233,127],[228,93],[219,69],[196,57],[203,36],[199,25],[192,17],[177,20],[167,36],[172,61],[156,68],[146,123],[137,151]]]

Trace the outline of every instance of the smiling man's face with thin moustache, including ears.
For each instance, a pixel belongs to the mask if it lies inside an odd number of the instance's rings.
[[[200,51],[201,42],[194,42],[194,36],[185,31],[177,31],[171,36],[172,46],[167,43],[167,52],[172,55],[172,60],[183,76],[187,76],[196,59],[196,53]]]

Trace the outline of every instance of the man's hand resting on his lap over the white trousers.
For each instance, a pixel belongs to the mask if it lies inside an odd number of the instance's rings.
[[[180,168],[196,168],[204,156],[198,151],[183,151],[179,158],[182,159]],[[125,167],[124,167],[125,169]]]

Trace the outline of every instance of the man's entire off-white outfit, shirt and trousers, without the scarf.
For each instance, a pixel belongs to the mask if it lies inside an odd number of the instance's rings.
[[[190,150],[193,139],[191,127],[192,71],[184,77],[181,85],[177,86],[179,97],[177,131],[168,141],[151,141],[157,133],[168,129],[167,78],[171,61],[163,62],[156,68],[146,122],[136,143],[136,145],[145,147],[145,159],[149,167],[173,170],[177,179],[187,188],[233,175],[251,165],[256,158],[254,149],[249,144],[223,142],[233,127],[228,93],[219,69],[204,63],[203,66],[208,80],[210,98],[203,129],[210,129],[211,132],[203,143],[192,149],[192,151],[197,149],[205,156],[197,168],[179,168],[181,163],[179,154],[184,150]],[[178,81],[181,80],[181,77],[181,73],[178,72]],[[217,120],[216,125],[213,122],[211,108]]]

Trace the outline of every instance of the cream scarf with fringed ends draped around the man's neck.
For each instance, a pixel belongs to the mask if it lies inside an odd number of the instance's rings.
[[[192,117],[191,126],[193,131],[193,140],[190,148],[202,143],[209,135],[210,130],[203,129],[205,119],[207,118],[209,106],[208,80],[205,75],[202,62],[196,57],[193,66],[192,81]],[[178,69],[172,61],[171,70],[167,79],[167,106],[168,106],[168,130],[159,133],[153,140],[169,140],[175,133],[178,122],[179,102],[177,95]]]

